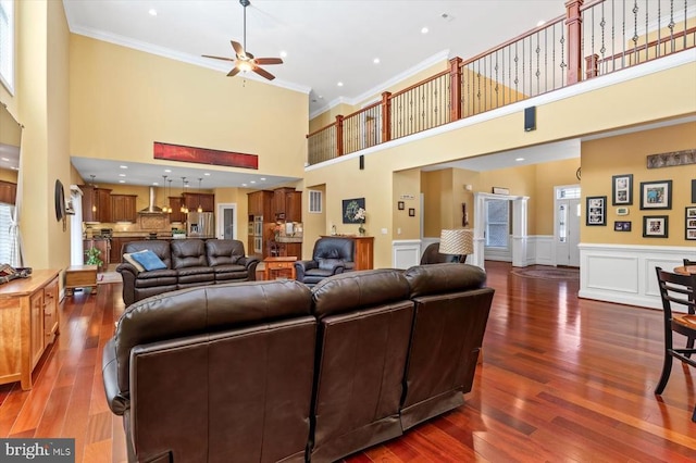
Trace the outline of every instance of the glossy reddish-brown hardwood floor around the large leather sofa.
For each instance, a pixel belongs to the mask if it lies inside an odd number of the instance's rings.
[[[496,296],[465,404],[346,462],[696,461],[696,371],[676,362],[662,398],[652,393],[659,311],[579,300],[577,281],[486,265]],[[35,370],[34,389],[0,386],[0,436],[73,437],[76,462],[124,462],[122,421],[101,383],[121,285],[76,292],[61,310],[61,335]]]

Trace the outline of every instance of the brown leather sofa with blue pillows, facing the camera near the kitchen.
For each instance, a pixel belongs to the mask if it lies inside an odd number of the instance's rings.
[[[165,268],[145,271],[123,258],[150,250]],[[236,239],[172,239],[130,241],[123,246],[121,264],[125,305],[177,289],[256,279],[259,259],[246,256]]]

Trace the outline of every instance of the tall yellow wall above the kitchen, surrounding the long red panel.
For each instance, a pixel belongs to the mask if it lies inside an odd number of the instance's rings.
[[[78,35],[70,51],[73,155],[176,165],[152,159],[162,141],[258,154],[258,173],[302,176],[307,95]]]

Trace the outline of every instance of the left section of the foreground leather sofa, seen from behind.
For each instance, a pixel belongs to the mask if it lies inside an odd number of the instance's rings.
[[[183,289],[128,306],[103,349],[128,460],[304,462],[316,321],[294,280]]]

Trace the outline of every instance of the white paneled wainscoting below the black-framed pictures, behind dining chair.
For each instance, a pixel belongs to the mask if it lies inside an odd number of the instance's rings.
[[[694,247],[580,245],[581,298],[661,309],[655,267],[696,259]]]

